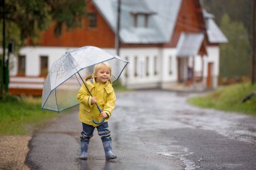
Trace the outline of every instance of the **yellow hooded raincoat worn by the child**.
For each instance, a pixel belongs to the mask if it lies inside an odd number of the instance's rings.
[[[116,101],[116,95],[112,87],[112,82],[107,81],[106,83],[97,83],[92,75],[90,75],[86,77],[86,85],[92,93],[92,96],[96,97],[100,109],[105,111],[106,114],[108,114],[108,118],[110,118],[115,108]],[[77,100],[80,102],[79,120],[85,124],[98,126],[98,124],[94,124],[92,120],[100,122],[102,118],[100,117],[100,112],[96,104],[91,104],[92,96],[90,96],[86,86],[83,84],[77,93]],[[108,118],[106,118],[104,122],[108,122]]]

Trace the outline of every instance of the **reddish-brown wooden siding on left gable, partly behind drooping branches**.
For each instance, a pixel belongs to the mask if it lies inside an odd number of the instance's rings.
[[[75,28],[70,32],[63,26],[63,33],[57,37],[54,34],[55,24],[42,33],[39,46],[99,46],[101,48],[115,48],[115,33],[108,26],[102,15],[88,1],[88,12],[97,13],[97,27],[89,28],[88,19],[84,19],[83,28]]]

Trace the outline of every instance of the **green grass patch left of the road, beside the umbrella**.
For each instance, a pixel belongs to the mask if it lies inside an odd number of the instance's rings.
[[[32,134],[47,120],[60,116],[41,110],[41,98],[16,97],[0,101],[0,135]]]

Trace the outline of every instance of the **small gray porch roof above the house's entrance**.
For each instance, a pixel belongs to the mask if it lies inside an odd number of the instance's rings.
[[[203,33],[181,33],[177,45],[177,56],[189,57],[197,55],[203,43],[203,38]]]

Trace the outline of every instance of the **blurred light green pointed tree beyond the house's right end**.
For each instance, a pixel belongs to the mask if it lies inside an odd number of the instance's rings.
[[[220,77],[249,75],[251,46],[247,29],[242,22],[231,22],[227,14],[222,16],[220,29],[228,43],[220,44]]]

